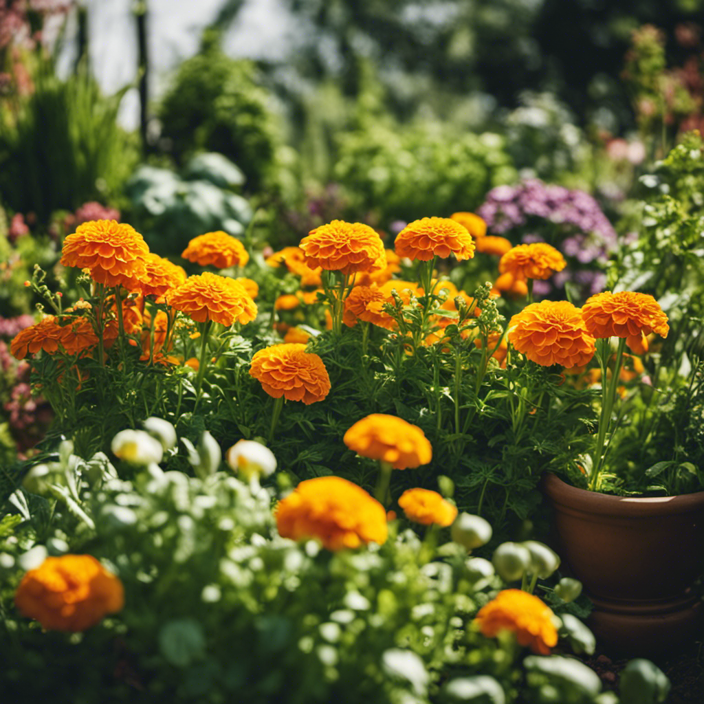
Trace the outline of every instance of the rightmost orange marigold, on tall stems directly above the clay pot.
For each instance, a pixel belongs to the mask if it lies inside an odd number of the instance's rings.
[[[620,291],[591,296],[582,306],[586,329],[594,337],[625,337],[634,352],[644,348],[643,335],[657,332],[667,337],[667,315],[650,294]],[[646,343],[647,344],[647,343]]]

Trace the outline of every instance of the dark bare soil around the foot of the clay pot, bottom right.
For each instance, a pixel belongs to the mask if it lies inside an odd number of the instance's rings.
[[[607,655],[582,656],[603,683],[604,689],[618,691],[621,671],[631,658],[610,658]],[[649,658],[670,679],[667,704],[704,704],[704,643],[697,641],[676,653]]]

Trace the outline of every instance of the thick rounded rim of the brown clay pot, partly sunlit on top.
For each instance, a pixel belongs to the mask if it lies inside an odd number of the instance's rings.
[[[704,510],[704,491],[677,496],[612,496],[598,491],[579,489],[563,482],[557,474],[543,472],[543,492],[555,503],[573,509],[604,515],[643,516],[674,515]]]

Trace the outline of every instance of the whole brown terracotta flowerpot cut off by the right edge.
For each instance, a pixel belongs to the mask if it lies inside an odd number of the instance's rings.
[[[558,553],[582,581],[597,640],[627,655],[650,655],[690,639],[702,602],[704,491],[627,498],[577,489],[543,474],[554,509]]]

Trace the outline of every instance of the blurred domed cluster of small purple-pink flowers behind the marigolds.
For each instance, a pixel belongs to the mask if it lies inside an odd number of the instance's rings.
[[[589,194],[539,179],[492,189],[477,213],[492,234],[537,226],[536,218],[564,226],[567,237],[557,245],[558,249],[584,264],[597,259],[605,262],[617,246],[615,230]],[[542,238],[527,234],[523,239]]]

